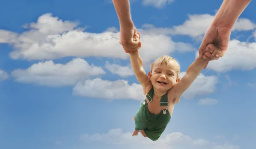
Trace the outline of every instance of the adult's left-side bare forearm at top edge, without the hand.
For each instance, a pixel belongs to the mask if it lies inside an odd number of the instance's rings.
[[[113,4],[116,9],[120,26],[133,27],[129,0],[113,0]]]

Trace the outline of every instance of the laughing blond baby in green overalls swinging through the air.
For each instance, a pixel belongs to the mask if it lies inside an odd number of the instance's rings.
[[[134,37],[134,40],[140,40],[140,34],[135,33]],[[221,54],[213,44],[209,44],[206,50],[211,51],[213,55]],[[128,53],[134,73],[146,97],[134,117],[135,130],[132,136],[140,132],[144,137],[155,141],[170,122],[174,106],[180,102],[180,96],[204,69],[207,60],[197,57],[180,79],[180,65],[174,58],[167,55],[159,57],[151,64],[147,75],[139,51]]]

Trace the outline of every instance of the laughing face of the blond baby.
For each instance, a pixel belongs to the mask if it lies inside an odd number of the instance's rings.
[[[168,65],[165,63],[161,65],[161,61],[155,62],[152,72],[149,73],[154,88],[160,92],[171,89],[177,82],[177,69],[177,63],[174,60],[171,60]]]

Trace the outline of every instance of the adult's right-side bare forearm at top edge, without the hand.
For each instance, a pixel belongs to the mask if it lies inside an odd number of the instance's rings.
[[[224,0],[212,22],[214,26],[233,28],[236,20],[251,0]]]

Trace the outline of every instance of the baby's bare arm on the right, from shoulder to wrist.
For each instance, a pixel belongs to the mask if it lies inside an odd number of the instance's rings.
[[[196,77],[198,77],[200,72],[204,69],[207,62],[208,61],[204,60],[202,57],[197,57],[195,59],[195,61],[187,69],[186,74],[182,77],[180,82],[174,86],[173,91],[175,93],[175,97],[179,98],[183,92],[185,92],[186,89],[191,86]]]

